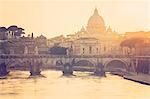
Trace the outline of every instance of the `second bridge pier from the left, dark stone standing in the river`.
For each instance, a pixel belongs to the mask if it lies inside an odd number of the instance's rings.
[[[38,76],[41,75],[40,63],[32,61],[30,63],[30,76]]]

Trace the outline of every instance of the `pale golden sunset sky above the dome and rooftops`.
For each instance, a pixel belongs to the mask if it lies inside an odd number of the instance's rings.
[[[86,27],[95,7],[119,33],[150,31],[150,0],[0,0],[0,26],[18,25],[48,38]]]

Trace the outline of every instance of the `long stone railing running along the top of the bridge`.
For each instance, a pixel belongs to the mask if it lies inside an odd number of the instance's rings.
[[[50,54],[1,54],[0,58],[130,58],[132,55],[50,55]],[[150,57],[150,56],[149,56]]]

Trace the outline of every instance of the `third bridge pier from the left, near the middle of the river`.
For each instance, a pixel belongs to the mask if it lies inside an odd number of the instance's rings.
[[[73,66],[70,63],[63,65],[63,75],[73,75]]]

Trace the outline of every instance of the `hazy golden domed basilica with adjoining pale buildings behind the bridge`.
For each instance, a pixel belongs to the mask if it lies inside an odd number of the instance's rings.
[[[122,54],[120,38],[121,36],[117,32],[112,31],[110,26],[106,28],[103,18],[99,15],[97,8],[95,8],[93,15],[88,20],[86,29],[82,27],[75,34],[69,34],[67,37],[58,36],[49,41],[51,43],[57,42],[62,47],[72,49],[75,55],[83,55],[83,53],[84,55],[96,55],[97,50],[99,52],[98,55],[103,55]],[[83,51],[84,47],[85,51]],[[92,49],[92,53],[88,53],[89,50],[86,52],[87,49]]]

